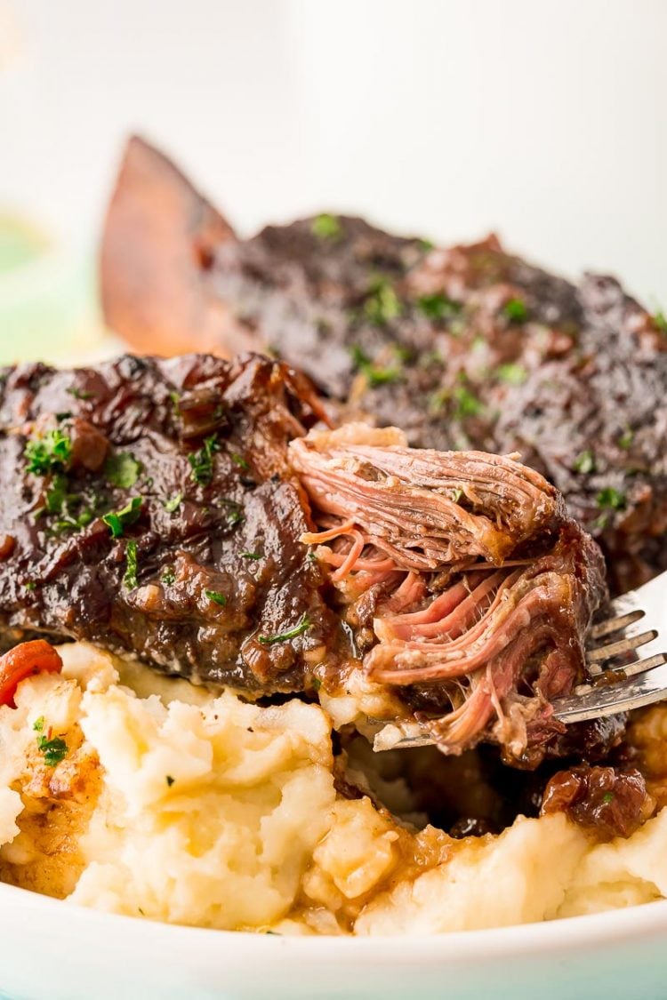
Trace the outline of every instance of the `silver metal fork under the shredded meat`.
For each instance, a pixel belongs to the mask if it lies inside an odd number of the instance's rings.
[[[567,698],[554,699],[555,718],[584,722],[666,699],[667,640],[660,638],[661,627],[667,627],[667,572],[611,601],[608,616],[587,636],[587,680]],[[606,641],[596,644],[599,639]],[[381,729],[373,746],[396,750],[432,743],[418,722],[398,722]]]

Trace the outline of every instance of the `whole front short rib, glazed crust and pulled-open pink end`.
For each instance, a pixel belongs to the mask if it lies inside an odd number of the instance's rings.
[[[0,465],[10,629],[249,697],[363,676],[447,753],[564,731],[603,561],[515,456],[332,430],[284,364],[191,355],[6,370]]]

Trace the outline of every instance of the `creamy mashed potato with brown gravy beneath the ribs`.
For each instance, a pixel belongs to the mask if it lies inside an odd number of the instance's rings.
[[[667,896],[667,810],[609,844],[562,814],[453,840],[343,797],[319,706],[261,708],[85,643],[61,652],[62,674],[23,681],[16,708],[0,708],[4,881],[277,933],[430,934]],[[642,716],[633,738],[655,794],[667,709]]]

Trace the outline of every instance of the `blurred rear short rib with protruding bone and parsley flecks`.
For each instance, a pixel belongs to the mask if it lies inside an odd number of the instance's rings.
[[[166,207],[146,196],[150,177],[166,178]],[[101,272],[107,320],[131,343],[155,349],[165,330],[190,348],[250,342],[411,445],[519,451],[600,539],[614,590],[665,567],[667,337],[617,282],[574,285],[494,237],[433,249],[332,216],[213,239],[193,268],[198,199],[132,140]],[[158,225],[168,257],[140,231]]]

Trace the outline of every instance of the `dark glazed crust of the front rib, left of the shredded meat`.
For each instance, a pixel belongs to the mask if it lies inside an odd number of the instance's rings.
[[[0,404],[4,626],[260,693],[335,659],[286,463],[320,414],[302,377],[259,356],[22,365]]]

